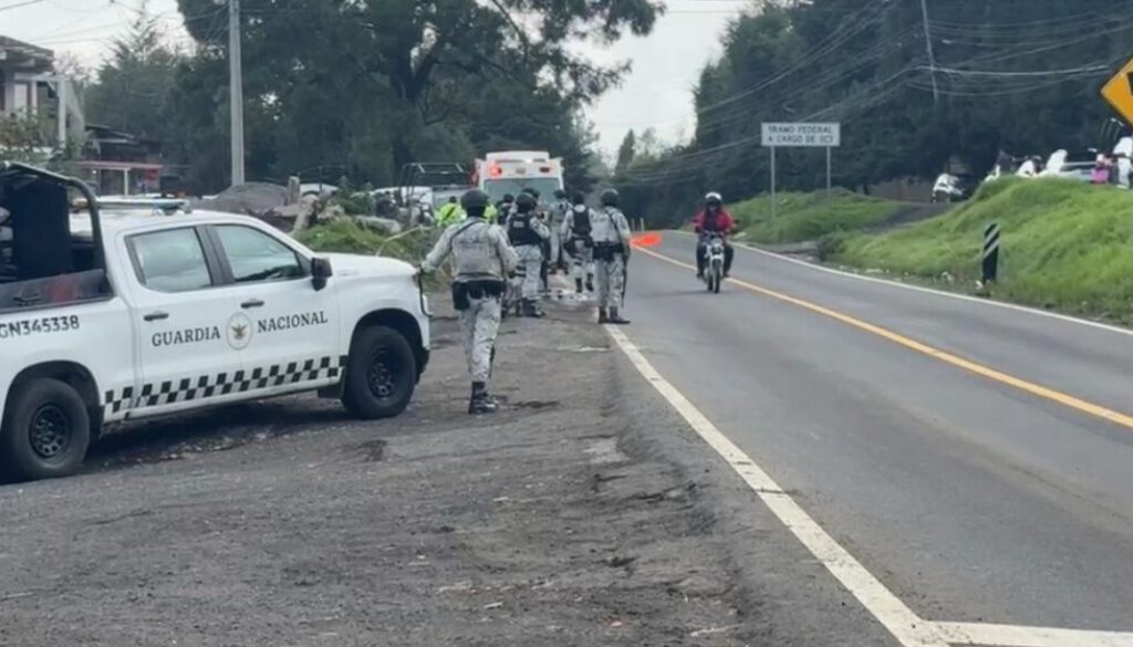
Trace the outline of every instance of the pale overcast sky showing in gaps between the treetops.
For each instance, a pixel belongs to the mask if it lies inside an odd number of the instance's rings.
[[[57,52],[74,52],[96,67],[108,41],[137,16],[142,0],[0,0],[0,35]],[[744,0],[667,0],[668,12],[645,39],[623,39],[593,50],[597,60],[629,60],[633,71],[625,83],[603,96],[589,111],[602,148],[616,150],[630,128],[654,127],[666,139],[692,131],[692,95],[700,69],[719,54],[719,35]],[[186,40],[177,0],[150,0],[150,11],[162,19],[171,37]]]

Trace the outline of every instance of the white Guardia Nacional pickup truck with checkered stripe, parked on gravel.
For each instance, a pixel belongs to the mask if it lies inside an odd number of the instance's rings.
[[[70,213],[68,193],[90,204]],[[333,266],[333,270],[332,270]],[[397,416],[429,358],[402,262],[316,255],[258,220],[111,208],[0,163],[0,471],[65,476],[108,423],[299,391]]]

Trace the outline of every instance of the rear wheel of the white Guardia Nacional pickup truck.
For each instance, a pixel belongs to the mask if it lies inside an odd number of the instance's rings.
[[[12,392],[0,460],[20,480],[57,478],[78,470],[91,445],[91,417],[83,398],[58,380],[35,380]]]

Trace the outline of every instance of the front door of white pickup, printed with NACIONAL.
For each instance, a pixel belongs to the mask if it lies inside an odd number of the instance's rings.
[[[248,326],[240,352],[253,389],[270,394],[338,382],[344,354],[335,290],[315,289],[309,261],[282,236],[246,224],[214,224],[210,233],[231,282],[225,291]]]

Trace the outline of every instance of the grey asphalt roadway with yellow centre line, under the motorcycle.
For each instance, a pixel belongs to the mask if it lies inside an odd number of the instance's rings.
[[[1100,417],[1133,337],[746,249],[733,278],[636,254],[627,334],[920,618],[1133,630],[1133,428]]]

